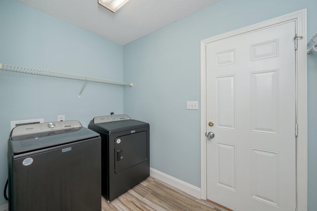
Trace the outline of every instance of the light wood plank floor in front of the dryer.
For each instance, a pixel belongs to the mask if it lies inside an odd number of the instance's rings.
[[[227,211],[196,199],[149,177],[123,195],[107,202],[102,197],[102,211]]]

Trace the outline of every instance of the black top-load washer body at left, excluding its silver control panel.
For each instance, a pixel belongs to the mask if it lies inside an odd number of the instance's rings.
[[[101,138],[87,128],[70,129],[67,121],[60,124],[66,125],[64,133],[8,140],[10,211],[101,210]]]

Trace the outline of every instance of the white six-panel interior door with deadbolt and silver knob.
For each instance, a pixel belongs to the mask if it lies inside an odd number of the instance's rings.
[[[294,37],[291,21],[206,46],[207,199],[234,211],[296,208]]]

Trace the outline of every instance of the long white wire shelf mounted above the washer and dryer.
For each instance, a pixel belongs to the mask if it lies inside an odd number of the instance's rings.
[[[112,81],[112,80],[106,80],[106,79],[100,79],[100,78],[92,78],[92,77],[85,77],[80,75],[60,73],[60,72],[51,72],[47,70],[33,69],[28,67],[19,67],[15,65],[1,64],[1,63],[0,63],[0,70],[52,76],[57,78],[75,79],[75,80],[81,80],[81,81],[92,81],[92,82],[114,84],[114,85],[121,85],[121,86],[130,86],[130,87],[133,86],[133,83],[128,83],[128,82]]]

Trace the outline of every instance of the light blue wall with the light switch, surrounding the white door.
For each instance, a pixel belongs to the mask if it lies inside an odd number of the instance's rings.
[[[200,187],[200,41],[307,8],[308,39],[317,32],[316,0],[220,0],[124,46],[123,109],[151,125],[151,167]],[[317,207],[317,53],[308,56],[308,206]]]

